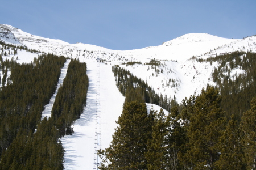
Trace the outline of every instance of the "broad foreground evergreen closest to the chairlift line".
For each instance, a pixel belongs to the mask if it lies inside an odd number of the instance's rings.
[[[147,139],[152,135],[153,118],[146,104],[127,102],[118,118],[113,140],[105,150],[99,150],[100,169],[147,169]]]

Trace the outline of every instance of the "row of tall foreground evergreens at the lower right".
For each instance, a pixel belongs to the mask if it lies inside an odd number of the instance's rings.
[[[165,115],[127,101],[100,169],[256,169],[256,98],[237,126],[227,121],[217,88],[185,98]]]

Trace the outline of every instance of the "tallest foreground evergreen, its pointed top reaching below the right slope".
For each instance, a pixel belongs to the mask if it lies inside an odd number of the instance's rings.
[[[220,157],[217,143],[225,129],[226,118],[220,108],[218,90],[207,86],[195,101],[195,114],[188,129],[190,150],[185,156],[193,169],[213,169]]]

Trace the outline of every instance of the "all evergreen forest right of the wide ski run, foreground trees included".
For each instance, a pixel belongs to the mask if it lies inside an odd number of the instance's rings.
[[[126,100],[112,143],[98,151],[100,169],[256,169],[255,57],[233,52],[198,59],[218,63],[212,73],[217,85],[180,104],[164,103],[143,80],[114,66],[117,87]],[[163,102],[171,112],[166,116],[151,110],[142,116],[145,101]]]

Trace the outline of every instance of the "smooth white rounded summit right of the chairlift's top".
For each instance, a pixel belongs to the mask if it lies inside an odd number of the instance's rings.
[[[159,46],[130,50],[121,54],[133,55],[139,61],[146,61],[147,58],[184,61],[192,56],[200,56],[234,41],[236,40],[224,39],[207,33],[189,33],[171,41],[163,42]]]

